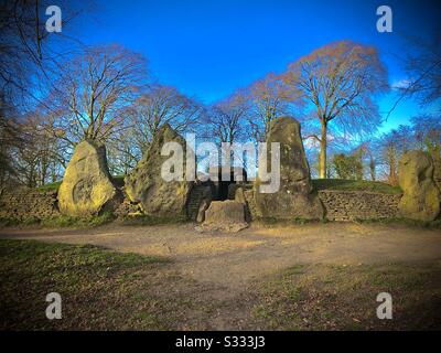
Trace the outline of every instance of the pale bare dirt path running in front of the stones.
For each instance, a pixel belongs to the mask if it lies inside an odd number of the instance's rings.
[[[254,226],[236,234],[197,233],[194,226],[116,226],[95,229],[0,229],[1,238],[94,244],[163,256],[182,275],[240,289],[250,280],[297,264],[384,264],[441,260],[441,232],[353,223]],[[223,293],[225,295],[225,293]]]

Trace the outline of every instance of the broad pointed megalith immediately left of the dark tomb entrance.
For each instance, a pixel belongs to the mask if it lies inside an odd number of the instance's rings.
[[[164,163],[175,157],[173,152],[162,156],[166,142],[175,142],[172,145],[182,148],[182,178],[176,178],[181,180],[168,181],[161,173]],[[186,149],[185,140],[170,125],[161,127],[138,165],[126,176],[126,193],[130,201],[138,203],[143,213],[152,216],[185,218],[185,205],[192,188],[192,182],[186,181],[187,153],[192,153],[190,158],[194,159],[194,152]],[[173,168],[170,171],[175,172]]]

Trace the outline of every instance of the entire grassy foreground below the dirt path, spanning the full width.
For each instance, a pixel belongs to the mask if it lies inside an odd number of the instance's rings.
[[[0,240],[0,330],[441,328],[439,264],[294,266],[230,290],[183,277],[163,258]],[[62,320],[45,318],[53,291]],[[376,318],[383,291],[394,320]]]

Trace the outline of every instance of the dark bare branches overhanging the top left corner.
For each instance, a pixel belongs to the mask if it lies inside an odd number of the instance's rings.
[[[3,104],[13,107],[35,104],[40,99],[36,87],[50,83],[50,63],[60,55],[47,44],[51,33],[45,30],[45,10],[51,4],[49,0],[0,1],[0,93]],[[64,28],[79,14],[67,0],[56,4],[63,9]],[[84,3],[82,8],[86,6]],[[56,33],[52,35],[52,42],[55,36],[66,40],[63,33]],[[69,47],[74,42],[68,39]]]

